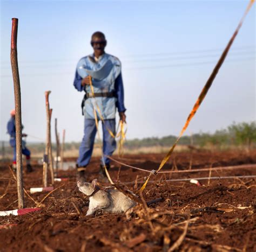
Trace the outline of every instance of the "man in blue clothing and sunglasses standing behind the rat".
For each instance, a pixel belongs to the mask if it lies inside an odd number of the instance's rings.
[[[106,181],[106,169],[110,168],[111,156],[116,149],[116,140],[110,131],[116,134],[116,108],[120,120],[125,122],[124,87],[121,72],[121,62],[117,57],[105,53],[107,41],[102,32],[95,32],[91,37],[93,53],[78,61],[73,85],[79,92],[85,92],[82,102],[84,115],[84,137],[79,147],[77,159],[77,174],[79,180],[85,180],[86,166],[89,164],[95,136],[97,132],[95,114],[97,120],[103,118],[103,153],[101,160],[99,179]],[[92,81],[93,97],[90,78]],[[98,108],[99,109],[98,109]]]

